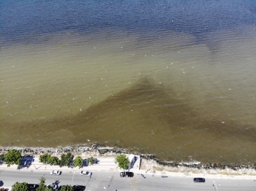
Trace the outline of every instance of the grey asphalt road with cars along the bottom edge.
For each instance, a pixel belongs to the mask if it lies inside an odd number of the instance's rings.
[[[93,171],[91,178],[81,176],[79,171],[63,171],[60,176],[50,175],[49,170],[45,171],[18,171],[4,169],[0,171],[0,180],[4,182],[4,187],[11,187],[15,182],[39,183],[41,176],[45,176],[46,184],[51,184],[59,180],[61,184],[78,184],[86,186],[86,190],[91,191],[163,191],[163,190],[256,190],[254,179],[214,179],[207,178],[205,183],[193,182],[192,176],[168,176],[161,178],[160,175],[144,174],[144,179],[140,174],[135,174],[132,178],[121,178],[118,172]],[[213,186],[215,182],[216,187]]]

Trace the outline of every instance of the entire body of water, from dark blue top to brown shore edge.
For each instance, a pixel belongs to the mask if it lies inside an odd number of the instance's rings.
[[[255,163],[255,24],[255,1],[0,1],[0,145]]]

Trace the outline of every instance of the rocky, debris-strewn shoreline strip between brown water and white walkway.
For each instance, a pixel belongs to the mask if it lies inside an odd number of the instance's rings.
[[[162,171],[176,172],[185,174],[222,174],[222,175],[256,175],[255,164],[237,164],[237,163],[208,163],[201,164],[198,161],[163,161],[159,160],[156,155],[145,155],[140,153],[130,152],[129,149],[118,147],[105,147],[100,144],[93,144],[91,147],[62,147],[62,148],[43,148],[43,147],[0,147],[0,155],[5,154],[11,149],[17,149],[22,155],[42,155],[48,153],[50,155],[62,155],[71,152],[72,155],[87,156],[105,156],[114,157],[120,154],[140,155],[140,170],[145,171]]]

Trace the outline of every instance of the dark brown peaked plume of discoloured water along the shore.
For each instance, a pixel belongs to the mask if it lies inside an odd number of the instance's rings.
[[[2,145],[11,146],[19,139],[15,145],[59,147],[89,144],[90,139],[154,153],[163,160],[244,163],[243,155],[246,160],[255,159],[255,152],[249,152],[255,149],[255,127],[231,120],[202,120],[185,98],[166,88],[143,78],[75,116],[22,125],[6,122],[12,133]]]

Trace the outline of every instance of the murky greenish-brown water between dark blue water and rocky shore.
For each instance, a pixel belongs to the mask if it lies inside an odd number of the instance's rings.
[[[1,146],[97,142],[163,160],[255,161],[255,26],[200,38],[144,30],[2,35]]]

